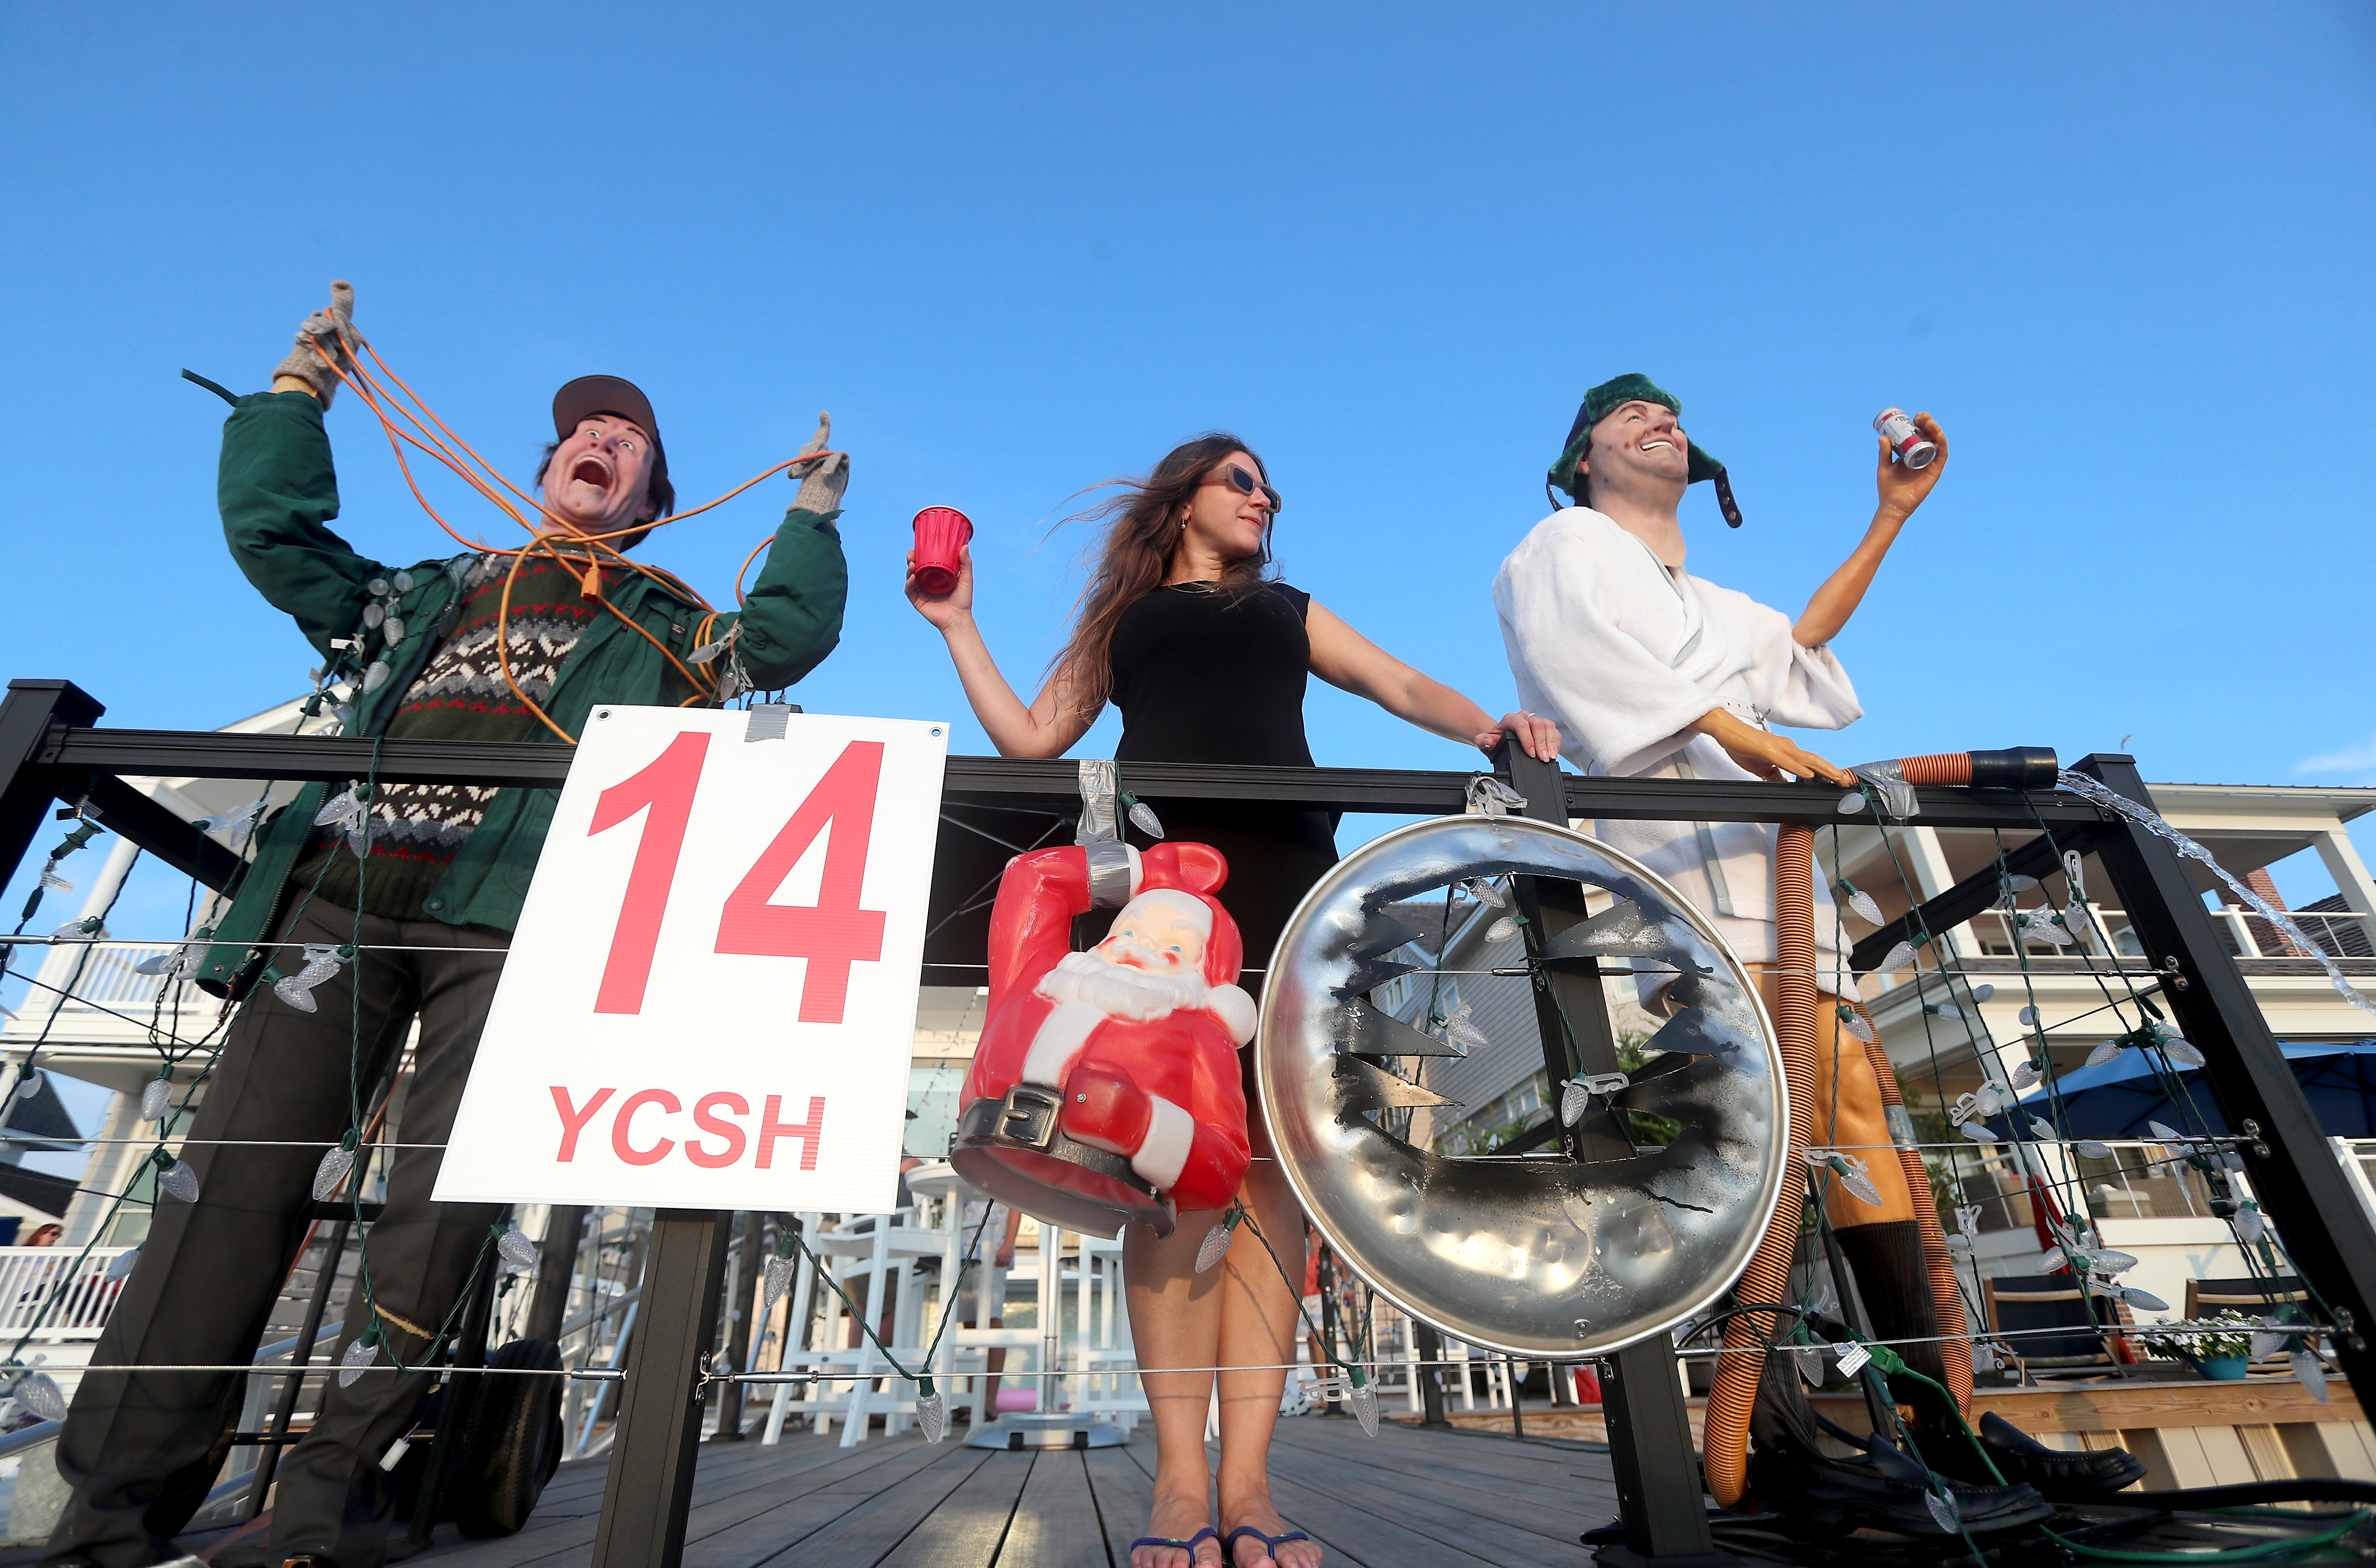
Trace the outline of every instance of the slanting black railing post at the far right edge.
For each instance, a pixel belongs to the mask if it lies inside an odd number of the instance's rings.
[[[2098,753],[2077,772],[2153,805],[2136,760]],[[2179,1033],[2203,1050],[2203,1076],[2250,1162],[2252,1193],[2286,1243],[2302,1283],[2333,1314],[2331,1340],[2352,1392],[2376,1399],[2369,1302],[2376,1302],[2376,1226],[2326,1145],[2293,1064],[2269,1033],[2236,960],[2219,946],[2210,910],[2167,839],[2127,820],[2096,841],[2129,927],[2148,962],[2165,972],[2162,1003]]]

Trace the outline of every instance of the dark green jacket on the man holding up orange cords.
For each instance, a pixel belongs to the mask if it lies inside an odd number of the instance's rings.
[[[328,527],[337,516],[337,473],[330,466],[330,437],[321,413],[304,392],[259,392],[235,399],[223,423],[216,499],[223,511],[223,537],[240,570],[259,594],[297,620],[318,653],[330,658],[333,639],[364,637],[364,606],[373,599],[368,584],[375,577],[394,577],[397,568],[366,561]],[[813,511],[786,513],[746,608],[718,615],[710,630],[718,639],[741,620],[734,646],[751,684],[763,691],[794,684],[841,641],[848,565],[841,558],[841,535],[834,532],[839,516],[839,511],[822,518]],[[475,556],[463,554],[406,568],[413,587],[402,606],[404,641],[380,653],[387,660],[387,677],[371,691],[359,691],[347,734],[371,736],[387,729],[444,637],[459,580],[473,561]],[[706,615],[696,603],[642,575],[618,587],[611,603],[677,658],[691,653]],[[378,634],[371,641],[378,646]],[[670,706],[684,696],[684,677],[661,658],[658,649],[618,618],[596,615],[561,663],[544,708],[556,725],[577,734],[594,703]],[[542,725],[532,739],[558,741]],[[290,886],[290,867],[304,853],[314,815],[330,789],[307,784],[257,836],[257,855],[238,884],[230,910],[216,924],[214,948],[197,974],[209,991],[238,991],[264,967],[257,943],[287,898],[304,891]],[[430,889],[428,915],[456,927],[513,929],[556,801],[554,789],[497,791],[485,822]]]

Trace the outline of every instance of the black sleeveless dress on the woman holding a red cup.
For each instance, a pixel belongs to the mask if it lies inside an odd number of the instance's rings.
[[[1271,948],[1321,874],[1335,865],[1335,820],[1224,801],[1176,801],[1131,784],[1131,763],[1262,763],[1312,767],[1304,684],[1312,594],[1285,582],[1219,592],[1181,582],[1145,594],[1114,625],[1114,706],[1121,708],[1121,786],[1162,817],[1164,839],[1209,843],[1228,858],[1221,908],[1245,936],[1240,984],[1262,995]],[[1140,848],[1143,834],[1131,834]]]

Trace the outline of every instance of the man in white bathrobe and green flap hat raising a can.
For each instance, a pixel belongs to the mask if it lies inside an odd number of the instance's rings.
[[[1592,387],[1549,473],[1549,482],[1575,504],[1535,525],[1502,563],[1492,589],[1518,696],[1530,710],[1559,722],[1566,758],[1585,774],[1792,774],[1853,786],[1849,770],[1775,734],[1772,725],[1841,729],[1863,717],[1856,687],[1830,641],[1849,625],[1898,530],[1946,470],[1946,435],[1939,423],[1920,413],[1915,425],[1936,444],[1936,461],[1906,468],[1891,456],[1889,442],[1877,442],[1879,504],[1872,523],[1792,620],[1749,594],[1685,570],[1677,508],[1689,485],[1715,480],[1725,518],[1734,527],[1742,518],[1723,463],[1682,432],[1682,404],[1675,394],[1647,375],[1618,375]],[[1594,832],[1673,881],[1715,922],[1744,962],[1772,969],[1772,824],[1599,822]],[[1818,986],[1837,995],[1844,965],[1827,881],[1815,877],[1815,965]],[[1772,1005],[1770,974],[1761,974],[1761,986]],[[1663,1012],[1666,986],[1658,974],[1639,974],[1637,988],[1644,1007]],[[1849,993],[1853,995],[1853,986]],[[1825,1214],[1856,1273],[1875,1333],[1898,1340],[1915,1371],[1946,1383],[1936,1335],[1941,1328],[1960,1333],[1960,1302],[1939,1300],[1934,1290],[1913,1188],[1901,1162],[1889,1157],[1891,1143],[1913,1138],[1913,1126],[1889,1126],[1879,1069],[1863,1043],[1839,1026],[1841,1012],[1837,1003],[1818,1012],[1818,1083],[1811,1095],[1818,1107],[1815,1143],[1844,1150],[1868,1166],[1870,1190],[1879,1202],[1853,1193],[1856,1183],[1834,1178],[1825,1183]],[[1799,1093],[1799,1086],[1792,1090]],[[1768,1361],[1768,1371],[1787,1366],[1780,1357]],[[1958,1387],[1958,1395],[1967,1387]],[[1763,1397],[1758,1411],[1763,1425],[1753,1430],[1761,1452],[1777,1447],[1777,1440],[1780,1447],[1813,1449],[1813,1423],[1784,1433],[1768,1423],[1770,1406]],[[1927,1463],[1963,1475],[1967,1447],[1946,1440],[1955,1430],[1951,1416],[1922,1406],[1917,1428],[1941,1437],[1925,1447]],[[2143,1466],[2122,1452],[2043,1456],[2020,1433],[1986,1423],[1984,1437],[2001,1471],[2027,1475],[2048,1497],[2093,1494],[2143,1475]],[[1977,1473],[1965,1478],[1984,1480]],[[1758,1471],[1751,1468],[1753,1490],[1789,1494],[1792,1485],[1820,1490],[1825,1478],[1811,1471],[1768,1471],[1768,1485],[1758,1487]],[[1896,1506],[1920,1518],[1920,1490],[1908,1490]]]

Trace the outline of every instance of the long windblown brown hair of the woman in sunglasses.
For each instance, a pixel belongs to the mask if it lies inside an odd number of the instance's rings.
[[[1081,715],[1095,720],[1112,696],[1114,625],[1121,622],[1124,611],[1171,575],[1171,561],[1186,537],[1178,513],[1231,451],[1255,459],[1255,468],[1269,482],[1271,470],[1262,466],[1252,447],[1226,430],[1212,430],[1174,447],[1148,478],[1119,480],[1121,494],[1067,518],[1067,523],[1112,520],[1105,530],[1105,546],[1098,551],[1098,570],[1081,589],[1072,639],[1048,665],[1048,679],[1069,694]],[[1264,549],[1231,561],[1221,573],[1219,589],[1247,594],[1262,587],[1262,573],[1269,563],[1269,527],[1264,527]]]

